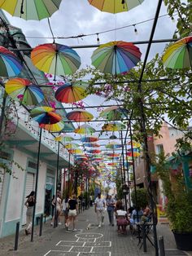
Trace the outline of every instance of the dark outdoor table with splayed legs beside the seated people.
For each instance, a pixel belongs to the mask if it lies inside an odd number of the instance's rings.
[[[151,241],[149,237],[149,232],[151,231],[151,227],[154,225],[151,222],[141,222],[141,223],[136,223],[137,225],[137,230],[138,230],[138,245],[142,243],[139,247],[139,249],[142,248],[143,245],[143,252],[146,253],[146,239],[151,242],[151,245],[154,245],[154,243]],[[141,236],[142,235],[142,236]]]

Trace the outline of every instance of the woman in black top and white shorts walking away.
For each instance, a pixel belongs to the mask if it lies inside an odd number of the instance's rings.
[[[76,195],[72,195],[72,199],[68,200],[68,221],[65,224],[66,229],[68,230],[68,227],[72,223],[72,231],[75,232],[76,228],[76,215],[78,210],[78,203],[76,201]]]

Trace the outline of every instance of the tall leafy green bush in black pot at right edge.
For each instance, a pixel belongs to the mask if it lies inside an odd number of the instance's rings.
[[[192,191],[185,187],[181,158],[168,163],[162,152],[155,167],[168,199],[165,211],[177,249],[192,250]]]

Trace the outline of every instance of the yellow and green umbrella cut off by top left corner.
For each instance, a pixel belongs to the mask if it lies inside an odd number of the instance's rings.
[[[41,20],[59,9],[61,0],[0,0],[0,8],[24,20]]]

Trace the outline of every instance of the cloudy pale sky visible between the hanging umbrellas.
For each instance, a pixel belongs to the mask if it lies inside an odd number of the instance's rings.
[[[119,14],[109,14],[98,11],[95,7],[89,5],[87,0],[63,0],[59,11],[50,17],[51,29],[55,37],[72,37],[80,34],[98,33],[101,44],[111,41],[137,42],[147,41],[151,35],[153,19],[158,5],[158,0],[145,0],[142,5],[133,8],[130,11]],[[18,17],[12,17],[7,12],[7,19],[10,23],[23,30],[29,44],[35,47],[41,43],[53,42],[48,26],[47,19],[22,20]],[[166,7],[162,3],[160,15],[166,15]],[[148,22],[143,22],[151,20]],[[141,23],[141,24],[137,24]],[[137,33],[134,32],[133,24],[137,24]],[[118,29],[123,26],[130,26],[125,29]],[[154,39],[172,38],[176,29],[176,23],[172,22],[168,15],[159,18]],[[118,29],[109,33],[102,33],[110,29]],[[50,39],[48,39],[50,38]],[[96,34],[78,39],[56,39],[55,42],[67,46],[85,46],[97,44]],[[142,60],[146,54],[147,45],[137,45],[142,52]],[[163,54],[165,43],[153,44],[148,60],[151,60],[156,53]],[[81,56],[81,68],[91,64],[91,55],[95,48],[75,49]],[[84,102],[88,105],[103,104],[104,99],[97,96],[88,96]],[[105,103],[106,104],[106,103]],[[98,117],[97,110],[88,110]],[[96,129],[101,129],[101,124],[94,123]],[[106,143],[106,142],[104,142]]]

